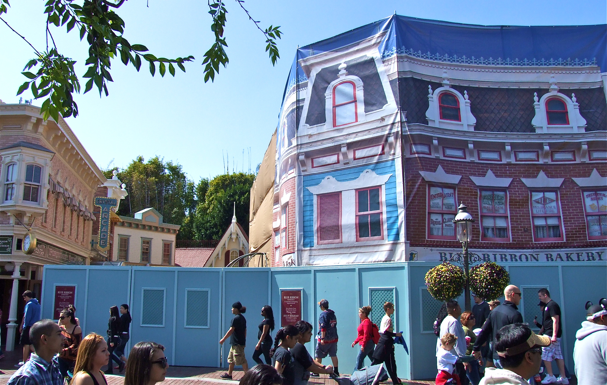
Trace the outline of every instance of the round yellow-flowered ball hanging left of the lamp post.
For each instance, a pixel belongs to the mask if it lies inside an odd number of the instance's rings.
[[[459,267],[444,262],[426,273],[428,292],[437,301],[447,302],[458,298],[464,291],[466,276]]]

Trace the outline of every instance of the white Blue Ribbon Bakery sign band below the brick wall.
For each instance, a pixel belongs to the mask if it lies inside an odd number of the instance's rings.
[[[407,260],[424,262],[444,262],[461,259],[461,250],[411,247]],[[470,249],[472,263],[483,262],[607,262],[607,250],[602,247],[588,249],[552,250],[481,250]]]

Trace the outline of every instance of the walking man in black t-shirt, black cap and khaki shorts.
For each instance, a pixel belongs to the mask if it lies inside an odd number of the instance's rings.
[[[242,313],[246,312],[246,307],[242,306],[240,302],[232,304],[232,322],[226,335],[219,340],[220,344],[223,344],[225,340],[229,339],[231,345],[228,353],[228,373],[220,375],[225,380],[232,380],[232,370],[234,366],[242,365],[242,370],[246,373],[249,370],[249,364],[246,362],[245,357],[245,346],[246,346],[246,320]]]

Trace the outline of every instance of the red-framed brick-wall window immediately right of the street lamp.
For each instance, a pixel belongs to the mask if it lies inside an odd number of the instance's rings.
[[[508,241],[506,191],[480,190],[481,238],[483,241]]]

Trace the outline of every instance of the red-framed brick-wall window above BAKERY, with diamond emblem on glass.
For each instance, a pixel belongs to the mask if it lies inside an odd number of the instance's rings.
[[[557,192],[532,191],[531,216],[535,241],[563,240]]]

